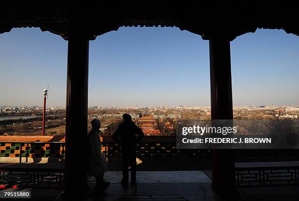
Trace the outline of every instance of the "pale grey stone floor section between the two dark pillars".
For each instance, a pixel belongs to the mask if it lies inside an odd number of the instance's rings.
[[[103,193],[103,201],[205,201],[209,192],[204,190],[211,184],[211,179],[202,171],[138,171],[136,177],[136,185],[123,188],[122,172],[106,172],[104,179],[110,181],[110,186]],[[93,177],[89,184],[95,184]]]

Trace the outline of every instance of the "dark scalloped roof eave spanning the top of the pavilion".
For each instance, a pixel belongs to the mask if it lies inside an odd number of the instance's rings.
[[[286,33],[299,35],[299,8],[294,3],[212,5],[206,1],[194,3],[187,0],[169,4],[166,0],[136,5],[113,1],[104,5],[81,0],[34,2],[10,0],[1,3],[0,33],[16,27],[40,27],[42,31],[68,40],[70,26],[74,25],[76,31],[87,32],[89,40],[122,26],[178,27],[200,35],[204,40],[217,37],[234,40],[257,28],[284,29]]]

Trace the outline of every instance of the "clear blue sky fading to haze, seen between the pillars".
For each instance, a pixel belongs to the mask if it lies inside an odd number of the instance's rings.
[[[299,104],[299,38],[257,30],[231,42],[233,103]],[[38,28],[0,35],[0,105],[65,105],[67,41]],[[89,106],[210,105],[209,41],[178,28],[122,27],[89,43]]]

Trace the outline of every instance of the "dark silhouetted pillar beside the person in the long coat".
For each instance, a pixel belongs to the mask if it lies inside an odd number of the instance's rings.
[[[87,184],[87,100],[89,40],[70,32],[67,54],[64,195],[82,200]]]

